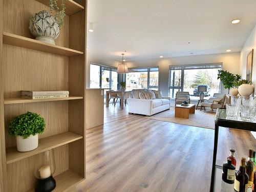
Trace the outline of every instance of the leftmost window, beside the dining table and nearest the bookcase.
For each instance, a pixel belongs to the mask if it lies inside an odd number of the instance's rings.
[[[117,90],[117,69],[112,67],[90,65],[90,88]]]

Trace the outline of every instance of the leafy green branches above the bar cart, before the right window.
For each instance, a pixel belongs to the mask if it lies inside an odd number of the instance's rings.
[[[225,89],[228,89],[228,93],[230,88],[234,87],[234,82],[239,81],[241,76],[236,74],[229,73],[228,71],[219,70],[218,71],[218,79],[221,80]]]

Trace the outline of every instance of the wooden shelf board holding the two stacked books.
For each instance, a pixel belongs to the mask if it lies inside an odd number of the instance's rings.
[[[4,104],[33,103],[33,102],[45,102],[45,101],[63,101],[63,100],[75,100],[75,99],[83,99],[83,97],[69,96],[69,97],[64,97],[64,98],[51,98],[51,99],[24,99],[21,97],[5,98]]]

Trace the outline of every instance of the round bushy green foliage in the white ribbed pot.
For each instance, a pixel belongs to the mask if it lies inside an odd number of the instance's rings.
[[[11,120],[8,132],[12,136],[22,136],[26,139],[30,135],[44,132],[45,126],[44,118],[36,113],[27,112]]]

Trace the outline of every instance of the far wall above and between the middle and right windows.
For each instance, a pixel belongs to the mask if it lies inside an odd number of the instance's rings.
[[[158,66],[160,90],[162,91],[163,95],[168,95],[168,78],[170,65],[194,65],[217,62],[223,63],[223,70],[227,70],[234,74],[240,74],[240,52],[139,60],[134,62],[127,62],[127,66],[129,68]],[[222,90],[222,92],[227,91]]]

